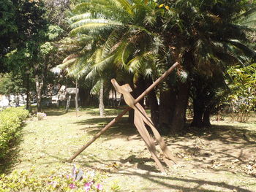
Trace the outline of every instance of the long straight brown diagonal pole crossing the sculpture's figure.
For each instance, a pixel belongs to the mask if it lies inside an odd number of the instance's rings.
[[[140,94],[140,96],[135,99],[135,104],[138,103],[138,101],[140,101],[141,99],[143,99],[144,96],[146,96],[146,94],[148,94],[153,88],[155,88],[159,82],[161,82],[162,80],[164,80],[171,72],[173,72],[173,69],[176,68],[176,66],[178,66],[178,62],[176,62],[175,64],[173,64],[173,66],[171,66],[164,74],[162,74],[161,77],[159,77],[155,82],[152,83],[152,85],[150,85],[146,91],[144,91],[143,93]],[[113,120],[110,121],[110,123],[108,123],[107,126],[105,126],[105,128],[102,128],[101,131],[99,131],[99,133],[97,133],[96,135],[94,135],[94,137],[92,137],[89,142],[86,143],[86,145],[83,145],[83,147],[80,148],[80,150],[78,150],[77,153],[75,153],[74,155],[72,155],[71,158],[69,158],[67,161],[72,162],[74,160],[74,158],[76,158],[80,153],[83,152],[83,150],[85,150],[87,147],[89,147],[89,145],[91,145],[91,143],[93,143],[97,138],[99,138],[99,136],[101,136],[105,131],[108,130],[108,128],[110,128],[110,126],[113,126],[114,123],[116,123],[118,120],[121,119],[122,116],[124,116],[131,108],[127,107],[123,112],[121,112],[121,114],[119,114],[116,118],[114,118]]]

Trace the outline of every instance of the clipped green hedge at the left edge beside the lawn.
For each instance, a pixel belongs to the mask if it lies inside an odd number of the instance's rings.
[[[8,153],[10,142],[20,134],[29,112],[21,107],[10,107],[0,112],[0,159]]]

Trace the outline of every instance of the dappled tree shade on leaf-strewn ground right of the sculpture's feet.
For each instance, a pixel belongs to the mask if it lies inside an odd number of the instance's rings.
[[[243,126],[214,125],[204,131],[190,130],[182,137],[165,137],[165,142],[175,149],[179,161],[190,164],[192,169],[256,177],[246,168],[255,164],[255,138],[256,132]]]

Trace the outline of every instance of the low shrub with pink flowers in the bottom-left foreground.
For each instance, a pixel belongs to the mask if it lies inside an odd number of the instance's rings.
[[[50,174],[43,174],[40,176],[33,175],[33,172],[34,170],[31,169],[30,172],[14,171],[10,175],[0,175],[0,192],[117,191],[116,189],[113,189],[111,185],[106,186],[104,184],[104,180],[107,178],[105,172],[94,172],[92,169],[78,169],[75,171],[76,174],[52,172]],[[79,172],[83,172],[83,174],[79,174]]]

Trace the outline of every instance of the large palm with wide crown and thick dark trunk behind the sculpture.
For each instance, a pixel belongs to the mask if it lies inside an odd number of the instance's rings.
[[[255,57],[246,45],[246,26],[234,22],[249,1],[127,1],[92,0],[78,4],[71,18],[71,35],[91,37],[102,49],[102,58],[91,64],[88,77],[112,68],[129,72],[138,80],[151,80],[178,61],[181,65],[160,88],[160,100],[168,106],[168,131],[180,133],[185,125],[192,72],[213,77],[228,64],[242,63],[244,55]],[[248,8],[249,9],[249,8]],[[86,65],[87,66],[87,65]],[[162,94],[168,93],[168,96]],[[162,96],[161,96],[162,95]],[[165,104],[165,101],[160,101]],[[159,122],[161,123],[161,122]]]

